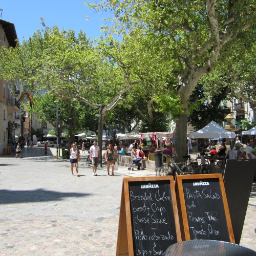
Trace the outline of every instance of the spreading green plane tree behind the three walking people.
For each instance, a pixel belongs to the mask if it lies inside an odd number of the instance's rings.
[[[32,95],[46,90],[66,102],[77,99],[96,110],[102,105],[98,126],[101,145],[105,114],[140,78],[130,75],[129,67],[108,52],[108,45],[93,44],[83,32],[76,36],[72,30],[42,25],[44,28],[22,45],[1,48],[0,77],[23,83]],[[69,116],[71,111],[69,108]]]

